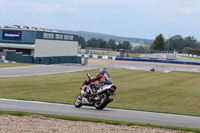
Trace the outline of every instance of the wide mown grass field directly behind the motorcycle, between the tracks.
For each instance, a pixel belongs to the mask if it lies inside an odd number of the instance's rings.
[[[0,97],[73,104],[86,73],[0,78]],[[200,116],[200,73],[108,69],[118,87],[110,108]]]

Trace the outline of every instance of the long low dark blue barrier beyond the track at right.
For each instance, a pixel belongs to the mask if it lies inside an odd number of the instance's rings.
[[[142,58],[130,58],[130,57],[116,57],[115,60],[200,65],[200,62],[185,62],[185,61],[160,60],[160,59],[142,59]]]

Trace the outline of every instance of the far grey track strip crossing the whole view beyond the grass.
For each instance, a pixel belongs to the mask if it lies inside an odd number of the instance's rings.
[[[89,60],[88,66],[33,65],[33,66],[0,68],[0,77],[48,75],[48,74],[91,70],[100,67],[123,68],[123,69],[140,70],[140,71],[150,71],[151,68],[154,68],[156,72],[166,72],[166,73],[172,71],[200,72],[200,66],[195,66],[195,65],[178,65],[178,64],[167,64],[167,63],[91,59]]]

